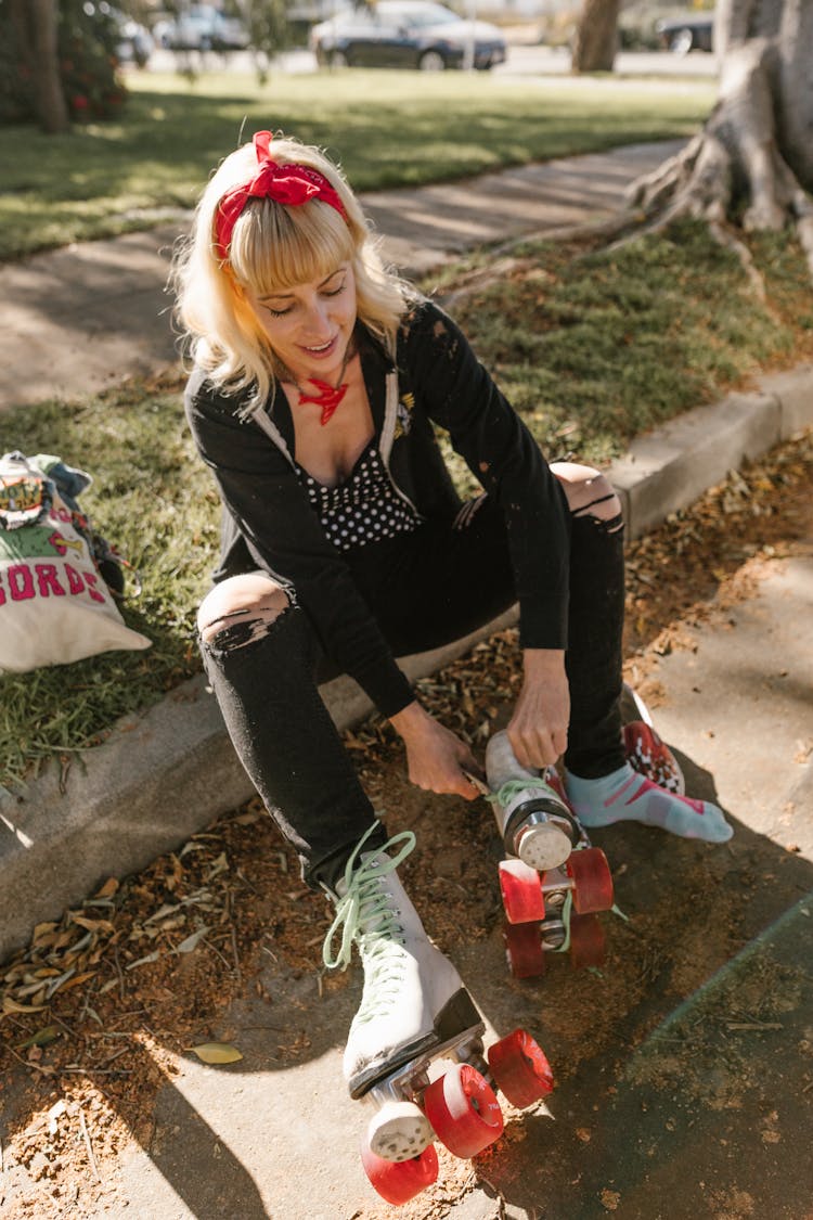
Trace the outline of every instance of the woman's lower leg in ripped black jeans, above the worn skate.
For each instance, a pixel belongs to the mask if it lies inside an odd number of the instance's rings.
[[[375,825],[317,689],[318,658],[307,616],[262,572],[232,576],[199,615],[204,664],[243,766],[308,884],[332,886]],[[377,827],[369,841],[385,841]]]

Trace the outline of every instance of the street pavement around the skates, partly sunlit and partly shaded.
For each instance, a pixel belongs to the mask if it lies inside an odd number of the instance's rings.
[[[696,632],[696,650],[663,658],[658,727],[692,793],[722,803],[735,837],[720,848],[635,826],[594,832],[633,930],[605,924],[601,974],[589,980],[558,961],[544,980],[512,981],[499,926],[456,947],[490,1026],[538,1031],[559,1083],[550,1118],[539,1108],[516,1119],[513,1138],[475,1163],[460,1193],[439,1191],[442,1210],[427,1197],[411,1218],[809,1215],[813,1166],[800,1141],[813,1108],[813,769],[796,742],[813,741],[812,601],[813,538],[806,556]],[[664,941],[664,956],[647,963]],[[619,1004],[617,988],[645,963],[642,998]],[[697,989],[675,1006],[690,971]],[[113,1215],[124,1200],[129,1215],[172,1220],[397,1215],[373,1209],[357,1153],[367,1111],[338,1083],[360,972],[322,999],[314,976],[293,978],[271,960],[261,981],[274,1028],[306,1028],[307,1055],[273,1063],[261,1002],[224,1013],[246,1063],[227,1087],[217,1070],[179,1060],[158,1096],[154,1143],[122,1157]]]

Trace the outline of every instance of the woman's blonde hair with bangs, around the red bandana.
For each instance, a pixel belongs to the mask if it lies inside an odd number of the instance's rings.
[[[232,233],[228,260],[217,249],[215,220],[223,195],[257,172],[252,144],[221,163],[195,210],[188,238],[176,250],[171,285],[174,316],[194,361],[227,393],[251,388],[246,412],[268,398],[284,366],[275,356],[245,295],[273,295],[300,283],[323,279],[341,262],[356,278],[358,318],[394,354],[395,334],[413,293],[379,254],[361,205],[341,172],[311,145],[274,138],[269,151],[278,165],[318,170],[338,193],[345,217],[319,199],[286,206],[251,199]]]

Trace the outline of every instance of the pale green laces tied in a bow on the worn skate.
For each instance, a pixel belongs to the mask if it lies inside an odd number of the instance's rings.
[[[394,933],[402,931],[395,913],[388,906],[389,895],[382,892],[379,882],[389,872],[395,872],[401,861],[414,848],[416,839],[412,831],[401,831],[400,834],[394,834],[383,848],[379,848],[369,860],[362,860],[361,864],[357,864],[364,843],[377,828],[378,824],[371,826],[345,866],[345,893],[336,904],[336,916],[328,928],[322,946],[322,960],[328,970],[346,970],[350,965],[353,941],[357,941],[366,961],[371,961],[374,975],[377,959],[384,955]],[[386,848],[396,847],[399,843],[402,843],[403,847],[396,855],[383,854]],[[364,925],[367,925],[367,932],[363,931]],[[341,928],[341,944],[339,952],[332,955],[332,946],[339,928]],[[368,946],[367,939],[371,933],[373,943]],[[364,974],[367,977],[368,972]]]

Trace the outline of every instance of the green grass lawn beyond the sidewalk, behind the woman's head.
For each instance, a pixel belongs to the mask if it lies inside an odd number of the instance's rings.
[[[0,128],[0,261],[147,228],[188,209],[211,168],[257,129],[327,148],[357,190],[690,135],[712,82],[492,77],[478,72],[174,73],[128,78],[119,121],[48,137]]]

